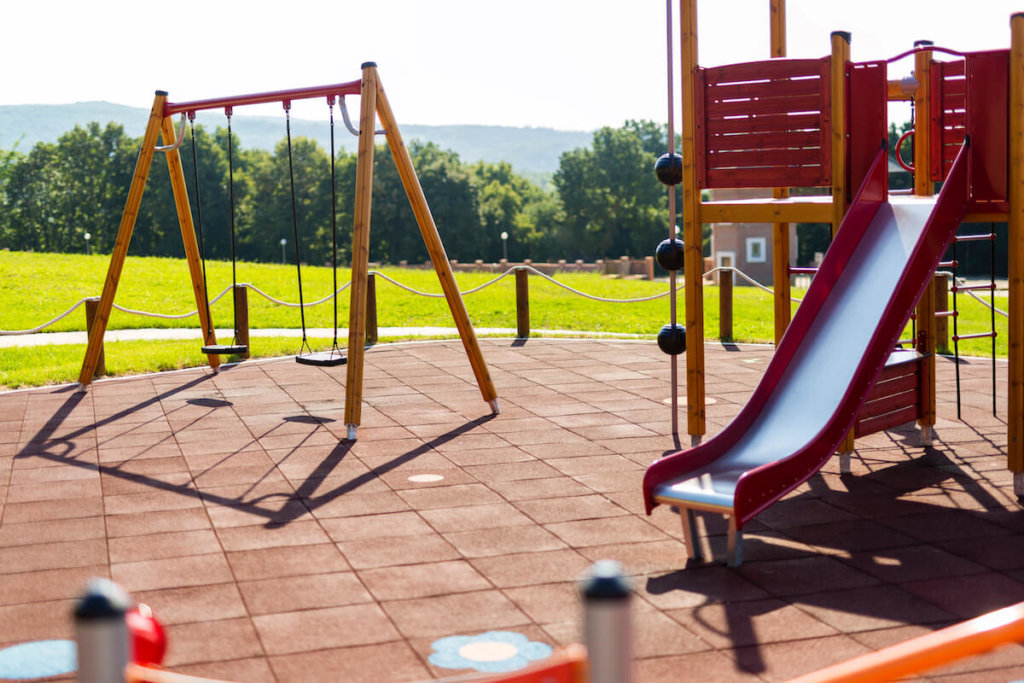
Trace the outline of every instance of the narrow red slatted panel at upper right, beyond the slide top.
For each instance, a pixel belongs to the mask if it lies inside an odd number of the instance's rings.
[[[967,133],[964,60],[932,62],[932,180],[946,177]]]

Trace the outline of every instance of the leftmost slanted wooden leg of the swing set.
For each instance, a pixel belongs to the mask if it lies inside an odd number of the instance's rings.
[[[114,295],[118,291],[121,270],[124,268],[125,257],[128,255],[128,244],[131,242],[132,230],[135,228],[135,218],[138,216],[138,208],[142,203],[142,191],[145,189],[146,178],[150,177],[150,167],[153,165],[153,155],[156,154],[157,139],[160,137],[166,101],[167,93],[158,90],[153,100],[153,109],[150,110],[150,122],[142,135],[142,146],[138,152],[138,159],[135,161],[135,173],[131,179],[131,187],[128,189],[128,199],[125,201],[125,208],[121,214],[118,237],[114,242],[114,253],[111,255],[111,264],[106,269],[106,280],[103,281],[103,292],[99,297],[99,305],[96,307],[92,331],[89,333],[89,345],[86,347],[85,357],[82,359],[82,371],[78,376],[80,391],[84,391],[89,382],[92,381],[92,376],[96,371],[96,361],[102,350],[103,334],[106,332],[106,323],[111,318]]]

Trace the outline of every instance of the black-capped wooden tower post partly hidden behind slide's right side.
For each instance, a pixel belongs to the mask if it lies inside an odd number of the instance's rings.
[[[928,47],[929,40],[915,41],[914,47]],[[913,57],[913,75],[918,88],[913,93],[913,194],[930,197],[935,194],[932,182],[932,98],[931,98],[932,52],[925,50]],[[916,349],[925,355],[921,366],[921,427],[922,445],[932,442],[932,428],[935,426],[935,283],[929,281],[918,303]]]

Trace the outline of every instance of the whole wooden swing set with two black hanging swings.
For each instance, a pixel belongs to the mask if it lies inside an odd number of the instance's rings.
[[[346,95],[358,95],[360,98],[359,128],[356,130],[348,121],[347,109],[345,108]],[[103,292],[97,306],[93,327],[89,334],[89,345],[86,348],[85,357],[82,361],[82,371],[79,375],[79,387],[85,390],[92,381],[96,369],[96,362],[102,349],[103,334],[110,319],[111,308],[114,304],[114,297],[117,293],[118,281],[121,270],[124,267],[125,256],[128,252],[128,244],[131,241],[132,230],[135,226],[135,218],[142,200],[142,191],[148,177],[153,159],[158,152],[163,153],[167,159],[167,167],[171,176],[171,186],[174,191],[174,204],[177,210],[178,222],[181,227],[181,240],[184,245],[185,259],[188,263],[188,272],[191,278],[193,293],[199,311],[200,327],[203,331],[203,352],[209,358],[210,368],[214,371],[220,366],[220,356],[225,354],[240,354],[248,351],[247,346],[238,339],[238,304],[234,306],[234,329],[236,339],[230,344],[218,344],[214,334],[214,326],[210,315],[209,298],[207,295],[206,283],[206,259],[204,255],[202,239],[202,203],[199,197],[199,165],[200,160],[195,154],[195,130],[194,121],[198,112],[209,110],[222,110],[227,119],[228,126],[228,176],[229,176],[229,198],[230,198],[230,225],[231,225],[231,278],[234,284],[234,199],[233,199],[233,162],[231,157],[231,115],[237,108],[259,104],[266,102],[281,102],[286,115],[286,130],[288,134],[289,150],[289,170],[292,188],[292,227],[295,241],[295,261],[297,278],[299,282],[300,311],[302,311],[302,269],[301,252],[299,246],[298,221],[295,211],[295,177],[292,170],[291,155],[291,119],[289,112],[293,101],[310,98],[325,98],[331,111],[331,174],[332,174],[332,216],[331,224],[334,230],[334,260],[333,265],[337,271],[337,229],[335,222],[335,197],[334,197],[334,106],[339,103],[340,111],[345,119],[346,126],[358,135],[358,158],[356,162],[356,182],[355,182],[355,210],[354,226],[352,230],[352,284],[349,290],[349,318],[348,318],[348,347],[347,358],[342,354],[337,345],[337,300],[335,300],[335,339],[333,347],[324,353],[314,354],[309,352],[305,337],[305,313],[301,313],[302,318],[302,348],[296,356],[296,360],[303,365],[332,367],[346,365],[345,380],[345,424],[349,439],[356,437],[356,429],[361,420],[362,407],[362,368],[366,343],[366,311],[367,311],[367,291],[368,274],[370,263],[370,217],[372,208],[373,190],[373,167],[374,167],[374,136],[383,133],[387,140],[388,148],[394,160],[401,179],[406,195],[409,198],[416,217],[420,233],[427,247],[430,260],[437,272],[444,298],[452,310],[459,336],[462,339],[466,354],[476,378],[477,386],[483,399],[488,403],[492,412],[500,411],[498,404],[498,394],[487,372],[486,364],[480,352],[480,347],[476,341],[466,306],[463,303],[462,295],[456,285],[452,265],[444,252],[444,245],[441,243],[434,223],[427,200],[420,186],[416,169],[413,167],[412,159],[398,124],[391,111],[391,105],[381,86],[380,77],[377,73],[377,66],[374,62],[362,65],[362,76],[357,81],[340,83],[336,85],[316,86],[308,88],[297,88],[294,90],[281,90],[275,92],[264,92],[248,95],[237,95],[229,97],[219,97],[214,99],[204,99],[186,102],[171,102],[167,99],[167,93],[157,91],[153,109],[150,113],[148,125],[142,137],[142,147],[139,151],[138,160],[135,164],[135,173],[132,177],[131,187],[128,190],[128,199],[125,204],[124,213],[121,217],[121,224],[118,228],[117,241],[114,245],[114,252],[111,257],[111,264],[106,272],[106,280],[103,283]],[[178,132],[175,133],[173,117],[181,116],[181,124]],[[185,130],[185,122],[188,128],[193,129],[193,176],[194,189],[193,197],[189,198],[187,184],[185,182],[184,169],[181,163],[181,156],[178,152]],[[377,128],[380,121],[383,131]],[[158,145],[159,138],[164,144]],[[196,220],[193,219],[193,202],[196,206]],[[197,227],[199,228],[200,240],[197,242]],[[337,279],[337,273],[335,274]],[[335,299],[337,299],[337,280],[335,280]],[[236,294],[238,290],[236,290]],[[346,362],[347,360],[347,362]]]

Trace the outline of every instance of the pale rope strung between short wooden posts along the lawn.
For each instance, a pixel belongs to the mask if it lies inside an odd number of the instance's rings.
[[[487,281],[486,283],[483,283],[482,285],[479,285],[479,286],[474,287],[472,289],[468,289],[468,290],[462,291],[460,293],[463,296],[468,296],[470,294],[475,294],[476,292],[484,290],[487,287],[490,287],[492,285],[498,284],[499,282],[501,282],[505,278],[509,276],[510,274],[515,273],[517,270],[527,271],[527,272],[530,272],[532,274],[539,275],[540,278],[542,278],[542,279],[544,279],[544,280],[552,283],[553,285],[555,285],[557,287],[560,287],[561,289],[563,289],[563,290],[565,290],[565,291],[567,291],[567,292],[569,292],[571,294],[574,294],[577,296],[583,297],[585,299],[589,299],[591,301],[599,301],[599,302],[603,302],[603,303],[642,303],[642,302],[646,302],[646,301],[654,301],[654,300],[657,300],[657,299],[662,299],[662,298],[665,298],[665,297],[669,296],[669,294],[670,294],[670,292],[668,290],[666,290],[665,292],[660,292],[658,294],[653,294],[651,296],[635,297],[635,298],[630,298],[630,299],[614,299],[614,298],[610,298],[610,297],[601,297],[601,296],[597,296],[597,295],[594,295],[594,294],[589,294],[587,292],[583,292],[583,291],[578,290],[578,289],[575,289],[573,287],[569,287],[565,283],[561,283],[561,282],[555,280],[551,275],[549,275],[549,274],[547,274],[545,272],[542,272],[541,270],[535,268],[531,265],[517,265],[517,266],[512,266],[512,267],[508,268],[505,272],[499,274],[497,278],[495,278],[495,279],[493,279],[490,281]],[[377,276],[383,279],[383,280],[386,280],[387,282],[391,283],[392,285],[394,285],[398,289],[403,290],[403,291],[406,291],[406,292],[408,292],[410,294],[414,294],[416,296],[422,296],[422,297],[428,297],[428,298],[443,298],[443,296],[444,296],[443,293],[421,292],[421,291],[419,291],[419,290],[417,290],[415,288],[409,287],[408,285],[404,285],[404,284],[398,282],[397,280],[394,280],[393,278],[390,278],[390,276],[384,274],[383,272],[380,272],[379,270],[371,270],[370,272],[372,274],[374,274],[374,275],[377,275]],[[738,275],[739,278],[741,278],[743,281],[745,281],[746,283],[749,283],[751,286],[756,287],[756,288],[758,288],[758,289],[760,289],[760,290],[762,290],[762,291],[764,291],[764,292],[766,292],[768,294],[774,295],[774,290],[772,290],[770,287],[762,285],[761,283],[759,283],[758,281],[754,280],[753,278],[751,278],[750,275],[748,275],[745,272],[743,272],[742,270],[740,270],[739,268],[736,268],[736,267],[733,267],[733,266],[717,266],[715,268],[712,268],[711,270],[708,270],[707,272],[703,273],[703,279],[705,280],[712,280],[713,276],[716,273],[719,273],[719,272],[732,272],[732,273],[735,273],[736,275]],[[936,274],[947,275],[953,282],[955,282],[957,285],[966,285],[967,284],[967,281],[964,278],[955,278],[955,276],[953,276],[953,274],[951,272],[948,272],[948,271],[940,271],[940,272],[938,272]],[[308,307],[311,307],[311,306],[317,306],[319,304],[327,303],[328,301],[332,300],[338,294],[344,292],[350,286],[351,286],[350,282],[349,283],[345,283],[344,285],[342,285],[341,287],[339,287],[336,292],[329,293],[327,296],[325,296],[325,297],[323,297],[321,299],[317,299],[315,301],[310,301],[308,303],[298,303],[298,302],[284,301],[282,299],[279,299],[279,298],[276,298],[276,297],[274,297],[274,296],[272,296],[270,294],[267,294],[266,292],[264,292],[263,290],[259,289],[258,287],[256,287],[252,283],[239,283],[239,287],[246,287],[246,288],[252,290],[253,292],[259,294],[264,299],[266,299],[267,301],[269,301],[270,303],[276,304],[279,306],[288,306],[288,307],[291,307],[291,308],[298,308],[300,306],[303,307],[303,308],[308,308]],[[683,285],[680,284],[676,288],[676,291],[679,292],[682,289],[683,289]],[[213,297],[212,299],[210,299],[210,305],[213,305],[214,303],[216,303],[217,301],[219,301],[220,299],[222,299],[230,291],[231,291],[231,286],[230,285],[226,286],[223,290],[220,291],[220,293],[218,293],[215,297]],[[970,296],[971,298],[973,298],[975,301],[977,301],[978,303],[980,303],[983,306],[985,306],[986,308],[990,308],[990,309],[994,310],[996,313],[998,313],[999,315],[1001,315],[1004,317],[1007,317],[1007,318],[1010,317],[1010,314],[1007,311],[1001,310],[1001,309],[996,308],[996,307],[993,307],[989,302],[985,301],[984,299],[982,299],[980,296],[978,296],[974,292],[966,291],[965,293],[968,296]],[[51,327],[51,326],[59,323],[60,321],[62,321],[66,317],[68,317],[71,313],[73,313],[76,309],[78,309],[79,306],[83,305],[86,301],[89,301],[90,299],[93,299],[93,298],[94,297],[83,297],[83,298],[79,299],[77,302],[75,302],[70,308],[68,308],[62,313],[56,315],[55,317],[53,317],[53,318],[51,318],[51,319],[49,319],[49,321],[47,321],[47,322],[45,322],[45,323],[43,323],[41,325],[36,326],[34,328],[30,328],[28,330],[0,330],[0,336],[32,335],[32,334],[37,334],[37,333],[43,332],[47,328],[49,328],[49,327]],[[797,298],[797,297],[793,297],[792,299],[793,299],[793,301],[795,301],[797,303],[800,303],[802,301],[802,299]],[[186,313],[157,313],[157,312],[153,312],[153,311],[136,310],[136,309],[132,309],[132,308],[127,308],[127,307],[121,306],[121,305],[119,305],[117,303],[115,303],[113,305],[118,310],[120,310],[120,311],[122,311],[124,313],[131,314],[131,315],[143,315],[143,316],[146,316],[146,317],[156,317],[156,318],[167,319],[167,321],[180,321],[180,319],[184,319],[184,318],[187,318],[187,317],[191,317],[193,315],[197,315],[198,312],[199,312],[198,310],[190,310],[190,311],[188,311]]]

